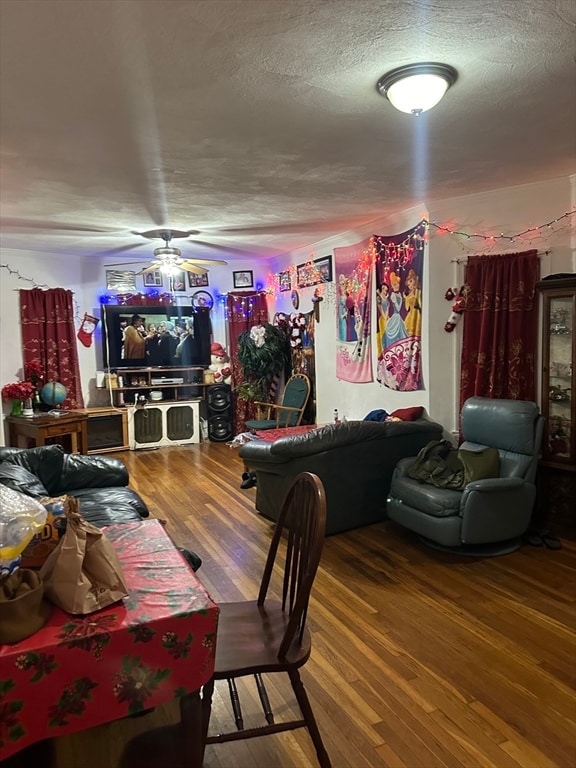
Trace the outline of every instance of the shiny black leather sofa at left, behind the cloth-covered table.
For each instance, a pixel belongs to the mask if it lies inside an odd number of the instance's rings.
[[[34,498],[75,496],[82,516],[99,528],[148,517],[129,479],[120,459],[64,453],[60,445],[0,447],[0,483]]]

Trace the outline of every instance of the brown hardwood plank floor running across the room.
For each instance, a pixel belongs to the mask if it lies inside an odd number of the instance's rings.
[[[203,443],[114,455],[175,541],[202,557],[198,575],[213,598],[254,598],[271,524],[255,513],[255,490],[239,487],[236,450]],[[574,768],[575,554],[563,541],[559,551],[457,558],[391,522],[328,538],[302,677],[334,768]],[[271,698],[287,691],[274,687]],[[257,700],[243,704],[256,723]],[[135,734],[177,717],[169,705],[58,739],[57,767],[117,768]],[[211,730],[224,722],[228,694],[217,688]],[[171,757],[151,745],[149,759]],[[317,763],[299,730],[210,746],[205,765]]]

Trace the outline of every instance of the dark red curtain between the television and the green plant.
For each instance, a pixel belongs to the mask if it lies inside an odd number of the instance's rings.
[[[231,291],[226,297],[226,318],[228,322],[228,342],[232,363],[232,389],[244,380],[238,362],[238,337],[254,325],[268,322],[268,304],[266,294],[246,291]],[[233,396],[234,424],[236,434],[246,431],[246,419],[253,419],[256,407],[247,400]]]

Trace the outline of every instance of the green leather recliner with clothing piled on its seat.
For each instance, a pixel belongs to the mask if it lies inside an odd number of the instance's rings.
[[[499,476],[439,488],[410,476],[416,457],[396,465],[386,503],[391,520],[436,549],[489,556],[513,552],[529,527],[544,418],[536,403],[471,397],[464,403],[460,449],[498,450]]]

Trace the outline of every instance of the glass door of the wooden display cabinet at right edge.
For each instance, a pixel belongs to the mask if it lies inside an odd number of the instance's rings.
[[[576,279],[541,281],[542,458],[550,466],[576,469]]]

